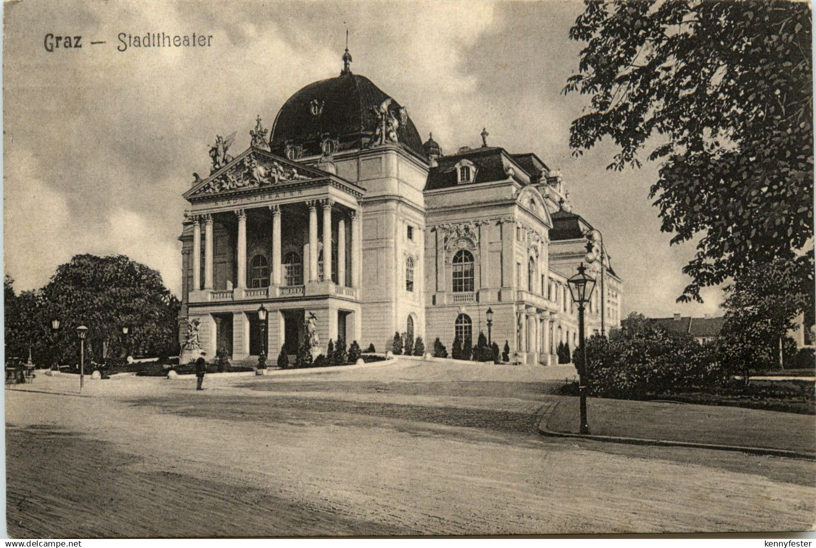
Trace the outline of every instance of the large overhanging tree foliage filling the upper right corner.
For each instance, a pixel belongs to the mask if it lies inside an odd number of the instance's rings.
[[[777,256],[813,270],[807,2],[586,2],[570,38],[587,45],[564,92],[592,96],[574,153],[610,137],[622,170],[648,146],[661,229],[698,239],[678,301]]]

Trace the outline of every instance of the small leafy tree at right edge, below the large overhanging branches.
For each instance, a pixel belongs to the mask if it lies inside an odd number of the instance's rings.
[[[725,324],[721,329],[721,349],[725,360],[747,379],[750,369],[769,362],[782,366],[780,341],[793,320],[806,307],[813,307],[813,281],[801,279],[800,263],[775,259],[756,263],[750,272],[725,286]],[[812,273],[811,273],[812,276]]]

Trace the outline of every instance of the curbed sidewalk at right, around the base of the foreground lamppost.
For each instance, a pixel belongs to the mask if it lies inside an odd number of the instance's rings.
[[[816,457],[813,415],[602,398],[589,398],[587,408],[590,439]],[[546,409],[539,431],[585,437],[578,433],[579,399]]]

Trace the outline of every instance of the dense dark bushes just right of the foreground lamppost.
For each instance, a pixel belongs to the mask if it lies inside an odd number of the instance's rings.
[[[644,399],[721,386],[730,378],[716,362],[715,343],[700,344],[687,334],[659,327],[615,340],[592,335],[586,352],[592,396]]]

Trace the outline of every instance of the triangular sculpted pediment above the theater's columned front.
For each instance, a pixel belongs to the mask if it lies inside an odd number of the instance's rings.
[[[233,161],[193,185],[184,198],[201,198],[253,188],[272,188],[286,183],[325,179],[329,173],[289,161],[272,152],[247,148]]]

